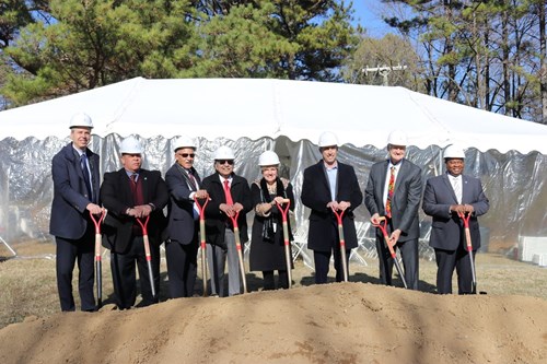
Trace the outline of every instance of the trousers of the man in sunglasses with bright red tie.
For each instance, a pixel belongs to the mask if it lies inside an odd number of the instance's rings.
[[[240,273],[240,257],[235,248],[235,235],[233,230],[225,228],[224,243],[226,248],[218,245],[207,244],[207,261],[211,275],[211,295],[224,297],[225,294],[225,274],[224,267],[228,257],[228,295],[233,296],[240,294],[241,290],[241,273]],[[243,249],[243,244],[242,244]]]

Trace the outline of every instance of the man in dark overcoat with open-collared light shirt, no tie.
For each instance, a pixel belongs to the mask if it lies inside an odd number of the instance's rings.
[[[307,248],[313,250],[315,283],[326,283],[334,251],[336,281],[344,281],[344,265],[338,236],[338,222],[333,211],[344,211],[346,267],[349,255],[357,247],[353,210],[361,204],[363,195],[352,166],[337,161],[338,139],[331,132],[319,137],[323,158],[304,171],[302,203],[310,208]],[[348,269],[349,270],[349,269]],[[349,272],[347,272],[349,275]]]

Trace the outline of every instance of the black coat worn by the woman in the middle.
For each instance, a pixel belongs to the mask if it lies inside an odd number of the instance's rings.
[[[287,187],[284,187],[286,196],[281,197],[291,200],[289,210],[293,211],[294,193],[292,191],[292,185],[290,185],[289,181],[286,179],[282,179],[282,181],[283,185],[286,185]],[[265,202],[263,201],[261,190],[258,183],[253,183],[253,185],[251,186],[251,193],[253,196],[254,207]],[[266,190],[265,193],[268,193],[268,191]],[[270,240],[263,238],[264,221],[268,218],[255,214],[255,219],[253,221],[253,233],[252,233],[251,253],[249,253],[249,267],[252,271],[287,270],[287,261],[284,258],[282,215],[277,206],[274,206],[270,211],[271,211],[270,218],[277,225],[274,239]],[[289,227],[289,242],[290,242],[292,240],[292,234],[291,234],[289,216],[288,216],[288,227]],[[292,253],[290,256],[292,257]],[[292,258],[291,258],[291,267],[292,267]]]

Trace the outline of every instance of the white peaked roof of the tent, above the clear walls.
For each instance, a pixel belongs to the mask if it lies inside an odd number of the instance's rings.
[[[93,133],[209,140],[286,136],[314,143],[330,130],[341,143],[384,148],[393,129],[420,149],[457,143],[480,151],[547,154],[547,127],[403,87],[264,79],[136,78],[0,113],[0,140],[65,138],[88,113]]]

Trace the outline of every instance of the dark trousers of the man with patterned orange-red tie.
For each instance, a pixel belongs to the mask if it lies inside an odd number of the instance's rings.
[[[407,282],[408,289],[418,290],[418,239],[398,242],[394,249],[400,250],[405,270],[405,281]],[[383,237],[381,239],[376,238],[376,251],[379,257],[380,282],[385,285],[393,285],[392,277],[394,261]]]

